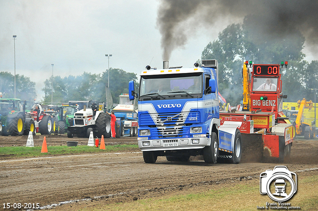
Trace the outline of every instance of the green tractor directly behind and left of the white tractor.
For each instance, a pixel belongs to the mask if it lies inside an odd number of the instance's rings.
[[[77,106],[62,105],[56,106],[54,110],[57,111],[57,122],[58,122],[58,132],[59,134],[64,134],[67,132],[69,126],[73,126],[74,114],[78,111]]]

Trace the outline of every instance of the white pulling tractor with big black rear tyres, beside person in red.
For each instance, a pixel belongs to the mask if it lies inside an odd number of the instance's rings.
[[[68,137],[89,138],[90,132],[93,132],[94,137],[104,138],[111,137],[110,116],[103,111],[103,106],[99,106],[97,100],[90,100],[88,107],[75,112],[74,124],[68,127]]]

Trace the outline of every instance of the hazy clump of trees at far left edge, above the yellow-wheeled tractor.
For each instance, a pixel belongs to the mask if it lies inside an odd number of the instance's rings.
[[[9,72],[0,72],[0,92],[3,98],[14,98],[14,75]],[[33,101],[36,97],[35,82],[24,75],[15,75],[15,97],[21,100]]]

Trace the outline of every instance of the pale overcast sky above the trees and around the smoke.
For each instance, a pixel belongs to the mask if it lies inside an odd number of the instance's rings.
[[[146,65],[162,68],[157,25],[160,0],[0,0],[0,71],[36,82],[52,75],[102,73],[109,67],[139,74]],[[231,23],[222,18],[213,30],[195,28],[187,43],[170,54],[171,66],[193,67],[204,47]],[[317,60],[304,49],[307,60]],[[1,91],[1,90],[0,90]]]

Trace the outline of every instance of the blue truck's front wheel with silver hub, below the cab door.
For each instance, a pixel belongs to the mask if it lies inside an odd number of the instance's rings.
[[[203,148],[203,158],[206,163],[216,163],[219,156],[219,141],[217,134],[212,132],[211,145]]]

